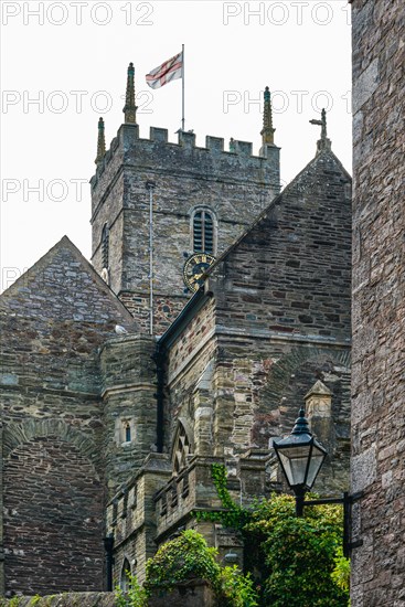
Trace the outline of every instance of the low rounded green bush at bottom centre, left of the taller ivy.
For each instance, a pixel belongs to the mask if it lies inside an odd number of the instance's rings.
[[[217,551],[210,549],[200,533],[183,531],[149,558],[147,586],[170,590],[182,582],[205,579],[221,607],[256,607],[257,596],[251,577],[244,576],[236,566],[222,568],[216,556]]]

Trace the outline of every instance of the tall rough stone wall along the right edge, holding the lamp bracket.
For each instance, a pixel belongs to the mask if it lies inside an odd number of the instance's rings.
[[[405,604],[402,0],[353,0],[353,607]]]

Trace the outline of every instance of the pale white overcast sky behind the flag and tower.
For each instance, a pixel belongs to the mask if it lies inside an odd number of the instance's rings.
[[[97,121],[107,148],[122,121],[126,71],[136,70],[141,137],[177,141],[181,81],[152,90],[145,74],[185,45],[185,129],[260,146],[273,93],[281,182],[328,136],[351,172],[351,28],[347,0],[1,2],[1,288],[66,234],[90,256]]]

